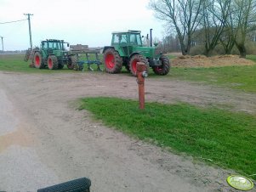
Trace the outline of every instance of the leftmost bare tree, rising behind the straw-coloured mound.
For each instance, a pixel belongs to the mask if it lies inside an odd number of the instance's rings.
[[[179,37],[181,52],[190,54],[191,37],[199,25],[203,0],[151,0],[156,18],[168,22]]]

